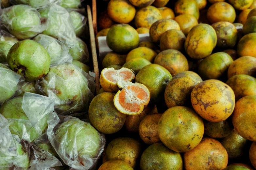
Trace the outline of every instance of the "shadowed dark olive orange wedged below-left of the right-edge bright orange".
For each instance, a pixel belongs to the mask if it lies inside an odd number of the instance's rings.
[[[244,154],[248,140],[240,136],[235,130],[223,138],[221,144],[227,150],[229,159],[239,158]]]

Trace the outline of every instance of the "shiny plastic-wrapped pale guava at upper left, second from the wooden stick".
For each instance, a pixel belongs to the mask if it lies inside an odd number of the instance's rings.
[[[38,9],[42,17],[47,18],[48,27],[42,34],[52,36],[70,48],[76,46],[76,33],[69,12],[52,3]]]

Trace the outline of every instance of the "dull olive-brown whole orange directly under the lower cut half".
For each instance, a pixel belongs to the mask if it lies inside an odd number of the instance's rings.
[[[100,93],[93,98],[89,107],[90,122],[104,134],[116,133],[125,123],[126,115],[115,108],[114,96],[111,92]]]

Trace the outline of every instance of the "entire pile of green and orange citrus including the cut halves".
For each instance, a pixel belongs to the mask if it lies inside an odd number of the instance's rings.
[[[256,168],[256,0],[110,0],[98,25],[100,170]]]

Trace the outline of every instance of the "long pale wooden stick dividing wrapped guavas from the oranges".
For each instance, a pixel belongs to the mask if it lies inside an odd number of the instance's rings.
[[[93,67],[94,67],[94,73],[95,73],[96,94],[98,94],[98,92],[100,90],[99,67],[98,67],[96,44],[95,44],[95,37],[94,37],[92,11],[91,11],[91,7],[89,5],[87,5],[87,13],[88,13],[90,41],[91,41],[91,49],[92,49],[92,57],[93,57]]]

